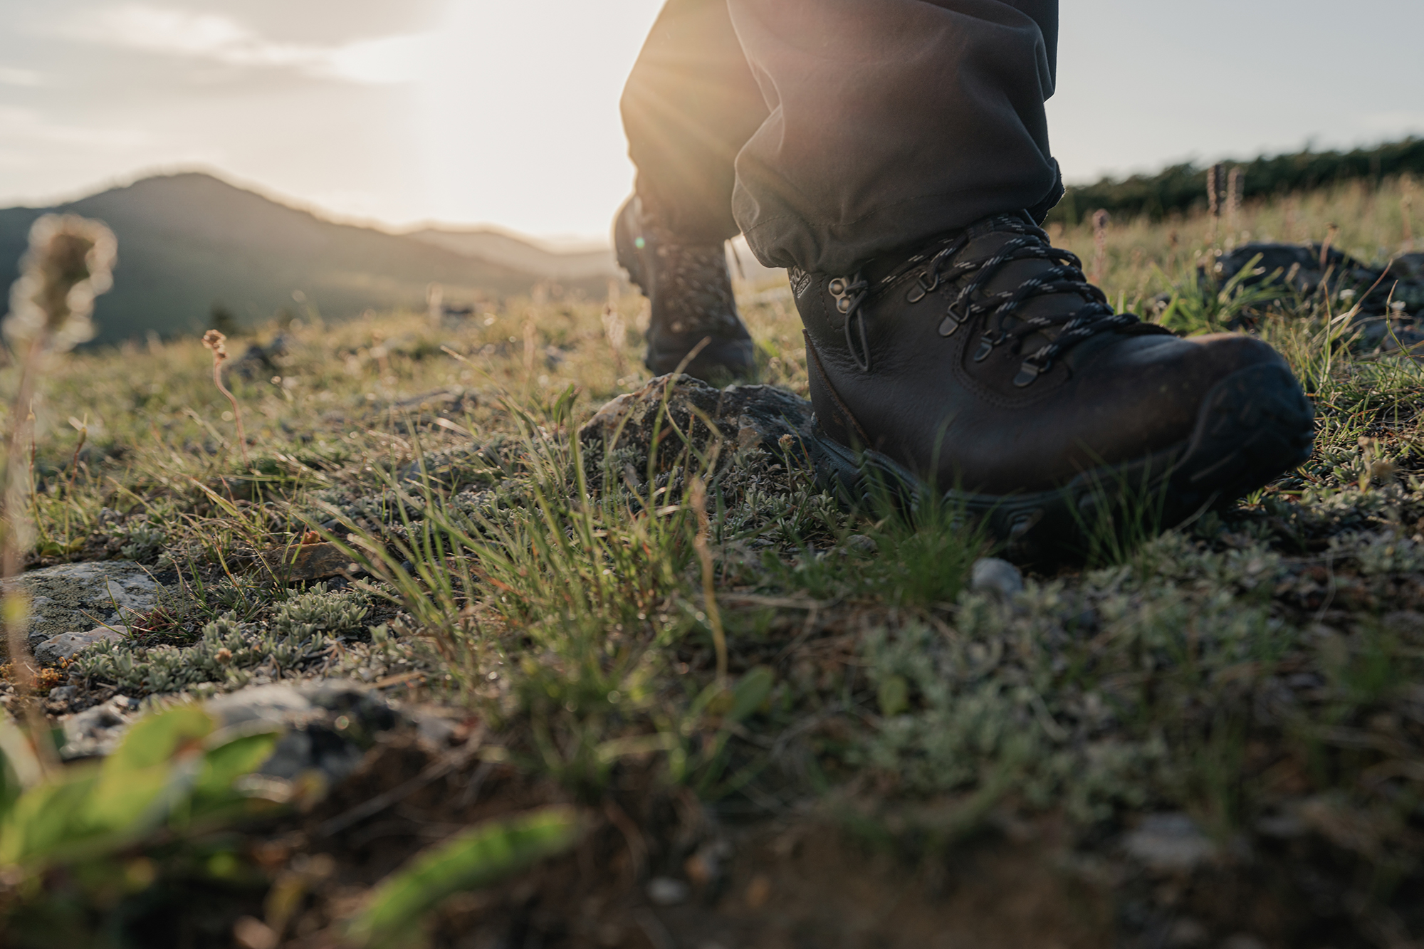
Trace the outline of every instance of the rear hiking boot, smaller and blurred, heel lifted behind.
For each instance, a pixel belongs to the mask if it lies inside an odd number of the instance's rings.
[[[654,375],[684,368],[706,382],[749,378],[756,368],[752,336],[736,315],[723,241],[688,244],[661,228],[634,195],[614,221],[614,248],[628,279],[648,296],[648,355]],[[698,349],[698,345],[706,341]]]

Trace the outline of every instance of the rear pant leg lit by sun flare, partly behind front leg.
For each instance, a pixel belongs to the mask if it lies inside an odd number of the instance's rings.
[[[726,0],[668,0],[621,105],[644,208],[691,242],[735,237],[733,160],[768,108]]]

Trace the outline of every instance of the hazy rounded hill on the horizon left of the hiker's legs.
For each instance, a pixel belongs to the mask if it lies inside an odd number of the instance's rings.
[[[98,218],[118,237],[114,289],[95,306],[95,342],[150,331],[165,336],[201,331],[214,305],[242,325],[256,325],[282,309],[299,313],[293,294],[323,316],[340,319],[367,308],[424,308],[431,282],[441,284],[451,302],[523,294],[551,278],[590,294],[607,288],[602,275],[524,269],[508,262],[511,252],[481,258],[439,241],[333,224],[212,175],[188,172],[145,178],[54,208],[0,209],[4,292],[19,275],[30,225],[50,211]],[[530,259],[557,256],[528,249]]]

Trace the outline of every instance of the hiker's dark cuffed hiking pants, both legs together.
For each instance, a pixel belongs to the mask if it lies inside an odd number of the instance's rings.
[[[1062,197],[1058,0],[668,0],[622,97],[638,194],[689,241],[843,274]]]

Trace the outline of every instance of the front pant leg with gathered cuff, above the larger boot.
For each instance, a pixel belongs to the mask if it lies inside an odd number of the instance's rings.
[[[857,264],[1062,195],[1057,0],[728,0],[769,115],[732,207],[773,266]]]

